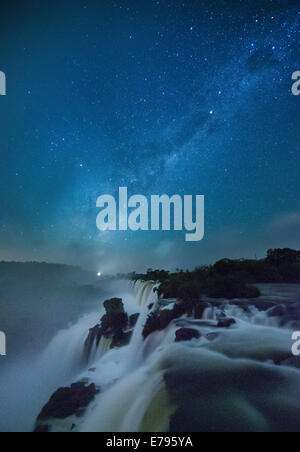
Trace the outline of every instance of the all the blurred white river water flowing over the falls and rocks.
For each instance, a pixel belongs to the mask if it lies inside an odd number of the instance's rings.
[[[89,328],[99,322],[101,310],[82,317],[76,325],[56,335],[36,364],[35,372],[53,377],[50,383],[48,377],[40,382],[34,417],[55,389],[84,380],[95,383],[100,394],[82,418],[50,422],[52,431],[71,431],[73,424],[76,428],[72,431],[77,432],[168,431],[176,404],[166,390],[165,374],[186,372],[189,376],[199,372],[199,387],[190,403],[195,403],[203,430],[211,425],[216,428],[220,425],[225,430],[227,426],[230,430],[236,422],[241,429],[248,426],[249,430],[265,431],[284,429],[286,422],[294,428],[293,423],[299,422],[300,431],[300,372],[274,364],[290,353],[290,329],[280,328],[279,319],[259,312],[254,306],[245,312],[239,306],[227,304],[224,313],[236,320],[229,329],[217,329],[220,312],[208,308],[201,320],[183,316],[144,340],[142,331],[147,315],[158,305],[153,288],[153,283],[138,281],[133,290],[118,293],[129,315],[140,314],[125,347],[111,349],[110,341],[101,339],[89,363],[84,361],[84,341]],[[276,294],[271,296],[274,299]],[[290,301],[294,301],[293,296]],[[176,330],[181,327],[197,329],[201,338],[175,343]],[[237,383],[239,375],[244,375],[241,378],[247,384]],[[214,379],[215,386],[209,385]],[[179,391],[188,384],[185,381],[183,376]],[[35,390],[32,388],[31,393],[39,394]],[[226,417],[222,415],[224,410]],[[281,413],[279,419],[274,418],[274,410]]]

